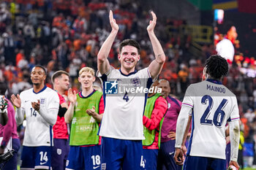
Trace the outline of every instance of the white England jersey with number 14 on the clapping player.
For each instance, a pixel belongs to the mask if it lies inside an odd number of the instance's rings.
[[[39,93],[34,93],[33,88],[20,93],[21,109],[26,116],[26,130],[23,145],[29,147],[53,146],[53,128],[39,113],[31,106],[32,101],[40,101],[40,110],[56,110],[52,114],[59,112],[59,96],[51,88],[43,88]],[[49,114],[44,112],[42,114]],[[55,116],[54,116],[55,117]]]

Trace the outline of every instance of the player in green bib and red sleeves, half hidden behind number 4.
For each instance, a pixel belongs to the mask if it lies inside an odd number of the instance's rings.
[[[158,80],[155,81],[151,88],[157,88]],[[157,169],[157,155],[159,150],[159,131],[161,129],[161,120],[167,111],[167,101],[160,93],[148,93],[148,99],[143,115],[143,133],[145,140],[143,144],[143,164],[146,170]]]

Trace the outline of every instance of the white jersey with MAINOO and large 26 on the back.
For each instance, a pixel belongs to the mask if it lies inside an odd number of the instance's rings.
[[[192,134],[187,154],[225,159],[225,125],[239,120],[236,96],[221,82],[189,85],[182,107],[192,108]]]

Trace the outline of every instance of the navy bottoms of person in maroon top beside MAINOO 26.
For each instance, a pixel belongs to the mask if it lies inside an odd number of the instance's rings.
[[[162,142],[158,152],[157,170],[181,170],[182,166],[178,166],[174,161],[175,140]],[[198,170],[198,169],[197,169]]]

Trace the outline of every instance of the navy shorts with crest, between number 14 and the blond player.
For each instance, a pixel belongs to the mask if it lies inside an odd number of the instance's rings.
[[[53,170],[64,170],[66,168],[68,155],[68,139],[53,139],[53,151],[51,155],[51,165]]]

